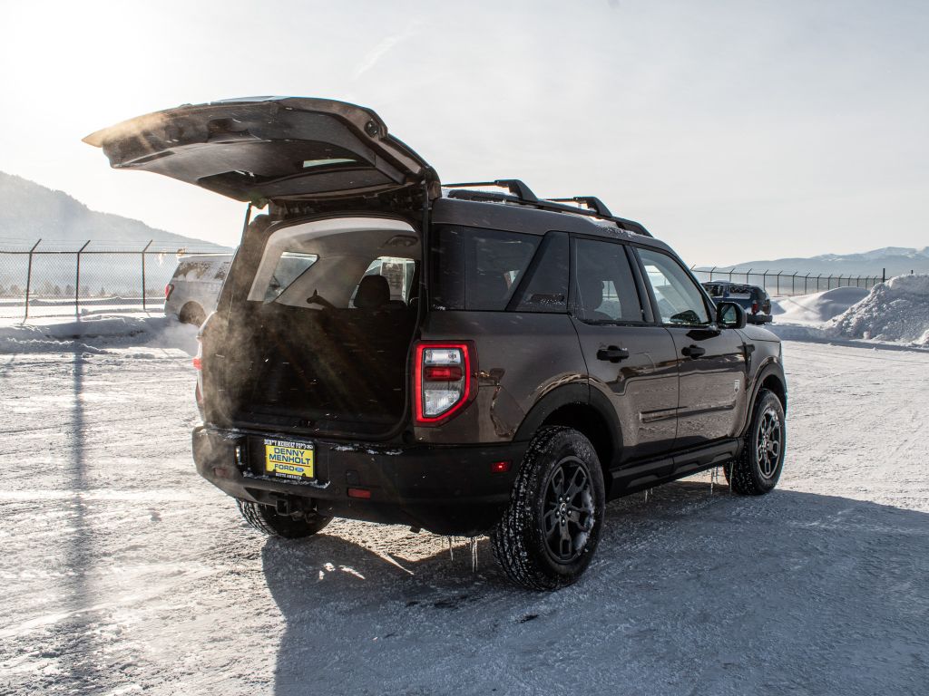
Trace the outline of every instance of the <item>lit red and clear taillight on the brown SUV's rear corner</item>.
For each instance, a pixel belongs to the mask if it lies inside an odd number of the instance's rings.
[[[416,425],[451,419],[478,394],[478,355],[471,342],[416,344],[413,394]]]

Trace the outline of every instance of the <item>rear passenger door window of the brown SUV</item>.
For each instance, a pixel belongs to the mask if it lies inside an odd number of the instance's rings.
[[[574,311],[588,323],[643,321],[635,277],[622,244],[577,239]]]

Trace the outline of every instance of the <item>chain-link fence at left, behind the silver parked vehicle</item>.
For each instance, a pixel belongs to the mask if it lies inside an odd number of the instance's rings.
[[[135,248],[102,241],[5,241],[0,246],[0,318],[161,312],[177,260],[221,248],[151,240]]]

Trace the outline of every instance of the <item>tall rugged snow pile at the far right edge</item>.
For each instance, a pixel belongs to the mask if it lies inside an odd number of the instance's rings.
[[[897,276],[831,322],[829,333],[929,345],[929,275]]]

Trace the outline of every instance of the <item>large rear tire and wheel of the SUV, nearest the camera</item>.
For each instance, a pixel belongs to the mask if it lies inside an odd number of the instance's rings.
[[[605,509],[594,445],[570,428],[543,428],[491,532],[493,556],[517,585],[543,591],[568,586],[594,557]]]

